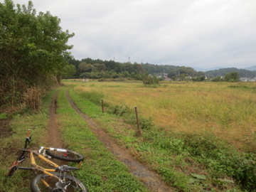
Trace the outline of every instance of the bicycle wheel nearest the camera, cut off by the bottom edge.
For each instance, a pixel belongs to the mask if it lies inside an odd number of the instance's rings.
[[[54,174],[55,176],[60,177],[60,172],[51,172],[50,174]],[[49,184],[51,189],[48,188],[41,179],[43,180],[47,179],[47,183]],[[71,182],[68,188],[65,190],[65,192],[73,192],[73,191],[87,192],[87,188],[80,180],[78,180],[78,178],[75,178],[70,175],[66,175],[65,179]],[[55,178],[53,176],[48,176],[47,174],[39,174],[36,177],[34,177],[33,180],[31,181],[31,191],[33,192],[64,191],[63,189],[57,187],[59,186],[58,183],[59,183],[58,178]]]

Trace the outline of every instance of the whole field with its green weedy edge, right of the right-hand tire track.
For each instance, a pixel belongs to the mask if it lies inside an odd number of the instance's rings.
[[[104,99],[105,114],[95,113],[100,100],[93,107],[84,92]],[[178,191],[255,190],[254,83],[171,82],[156,88],[78,82],[70,95],[82,112]],[[135,136],[134,106],[142,137]]]

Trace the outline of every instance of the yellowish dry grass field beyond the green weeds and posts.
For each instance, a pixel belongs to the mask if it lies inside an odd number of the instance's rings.
[[[255,82],[65,82],[78,92],[100,92],[110,105],[138,107],[167,134],[215,134],[242,151],[256,147]],[[74,85],[75,85],[74,84]],[[100,102],[100,101],[99,101]]]

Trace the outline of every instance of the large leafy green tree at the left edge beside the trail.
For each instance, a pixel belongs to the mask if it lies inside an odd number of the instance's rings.
[[[53,75],[60,81],[73,36],[50,12],[36,15],[32,1],[16,9],[11,0],[0,4],[0,105],[22,102],[26,88],[46,85]]]

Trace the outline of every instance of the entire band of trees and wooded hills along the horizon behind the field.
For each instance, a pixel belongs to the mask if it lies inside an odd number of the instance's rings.
[[[185,66],[119,63],[114,60],[93,60],[91,58],[84,58],[82,60],[71,58],[69,64],[72,70],[70,70],[70,73],[63,75],[63,78],[130,78],[133,80],[143,80],[145,77],[148,78],[148,75],[145,74],[149,74],[162,77],[162,79],[170,78],[171,80],[180,81],[238,81],[240,77],[256,77],[256,71],[240,70],[237,68],[223,68],[203,72]],[[232,80],[228,78],[230,74]]]

